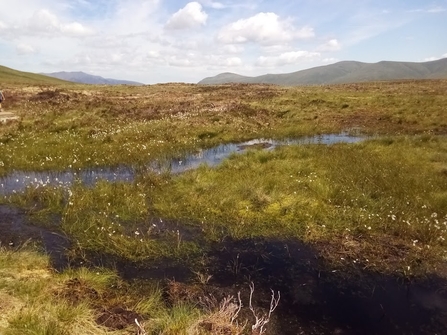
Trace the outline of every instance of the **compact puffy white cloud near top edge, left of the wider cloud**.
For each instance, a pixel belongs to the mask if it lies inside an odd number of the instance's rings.
[[[198,2],[190,2],[174,13],[166,23],[167,29],[188,29],[206,24],[208,15]]]

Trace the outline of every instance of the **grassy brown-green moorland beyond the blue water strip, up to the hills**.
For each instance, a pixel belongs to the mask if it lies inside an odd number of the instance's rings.
[[[354,129],[445,133],[446,81],[282,88],[265,85],[12,86],[0,127],[0,175],[141,165],[259,137]]]

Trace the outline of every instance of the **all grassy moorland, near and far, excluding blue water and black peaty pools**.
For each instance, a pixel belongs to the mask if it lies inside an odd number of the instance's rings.
[[[68,236],[73,259],[105,254],[206,273],[210,246],[231,237],[304,241],[340,270],[360,264],[381,273],[437,274],[445,260],[447,81],[28,84],[8,88],[4,107],[21,120],[0,125],[0,175],[121,164],[136,171],[129,183],[42,185],[0,199]],[[375,136],[253,148],[179,175],[146,165],[221,143],[341,131]],[[170,224],[163,231],[154,227],[160,219]],[[206,333],[200,324],[213,315],[223,333],[242,332],[214,310],[168,303],[160,283],[124,283],[106,269],[56,274],[33,250],[2,248],[0,273],[0,303],[10,311],[0,318],[5,334],[102,334],[99,307],[117,304],[141,314],[150,334]]]

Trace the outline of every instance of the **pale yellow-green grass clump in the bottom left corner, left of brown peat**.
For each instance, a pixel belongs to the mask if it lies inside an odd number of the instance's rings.
[[[0,248],[2,334],[101,334],[94,312],[85,303],[72,306],[58,299],[60,281],[49,266],[49,258],[28,247]]]

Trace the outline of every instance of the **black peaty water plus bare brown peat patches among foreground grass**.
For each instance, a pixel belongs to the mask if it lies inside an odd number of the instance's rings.
[[[169,259],[129,262],[97,253],[69,259],[64,253],[67,240],[58,233],[33,226],[17,209],[1,206],[0,212],[2,230],[8,232],[0,238],[2,245],[18,244],[18,239],[41,240],[52,265],[62,272],[82,270],[86,265],[93,272],[97,266],[116,269],[125,282],[99,289],[75,273],[52,293],[71,306],[87,302],[94,311],[94,322],[110,331],[132,332],[135,319],[150,329],[149,315],[132,308],[130,298],[123,298],[122,292],[141,294],[154,281],[161,285],[165,304],[197,306],[205,315],[228,297],[236,299],[240,292],[243,307],[237,321],[247,324],[247,333],[255,323],[248,308],[250,283],[255,285],[252,303],[258,316],[267,315],[271,292],[281,295],[266,334],[442,334],[447,330],[447,280],[436,275],[396,277],[364,265],[335,266],[308,244],[275,238],[227,238],[213,243],[202,255],[206,264],[197,271]],[[211,316],[199,320],[196,333],[240,331],[228,318],[223,323]]]

